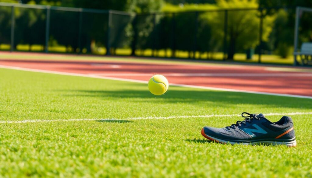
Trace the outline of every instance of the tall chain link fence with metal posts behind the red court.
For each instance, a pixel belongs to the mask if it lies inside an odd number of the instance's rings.
[[[0,3],[0,12],[0,50],[294,61],[295,8],[134,14]]]

